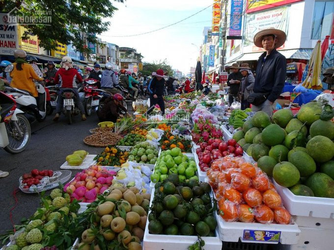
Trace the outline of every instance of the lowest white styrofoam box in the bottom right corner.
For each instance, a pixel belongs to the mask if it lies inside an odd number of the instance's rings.
[[[297,245],[282,245],[280,250],[331,250],[334,248],[334,230],[300,226]]]

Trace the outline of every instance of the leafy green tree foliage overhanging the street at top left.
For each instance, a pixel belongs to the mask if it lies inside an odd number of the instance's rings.
[[[113,0],[123,2],[124,0]],[[51,16],[50,26],[24,25],[29,33],[38,36],[39,45],[47,50],[56,48],[56,41],[72,43],[77,50],[89,53],[83,37],[90,43],[100,45],[95,34],[108,30],[110,22],[103,21],[117,10],[111,0],[0,0],[0,10],[9,12],[18,8],[26,17]]]

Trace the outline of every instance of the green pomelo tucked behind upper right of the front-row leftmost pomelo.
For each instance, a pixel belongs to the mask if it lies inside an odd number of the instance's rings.
[[[317,168],[312,157],[303,151],[296,151],[290,154],[288,160],[295,165],[302,177],[312,175]]]

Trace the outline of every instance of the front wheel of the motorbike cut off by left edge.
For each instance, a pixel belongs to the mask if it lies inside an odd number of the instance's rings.
[[[25,150],[28,147],[31,137],[31,128],[28,119],[23,114],[18,114],[16,117],[16,123],[23,133],[23,136],[20,136],[13,121],[9,124],[6,123],[9,144],[4,148],[4,150],[13,154]]]

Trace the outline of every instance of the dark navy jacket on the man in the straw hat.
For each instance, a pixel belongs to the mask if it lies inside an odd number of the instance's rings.
[[[274,102],[280,95],[286,78],[286,59],[284,55],[273,50],[265,59],[264,52],[257,61],[255,93],[270,93],[268,100]]]

